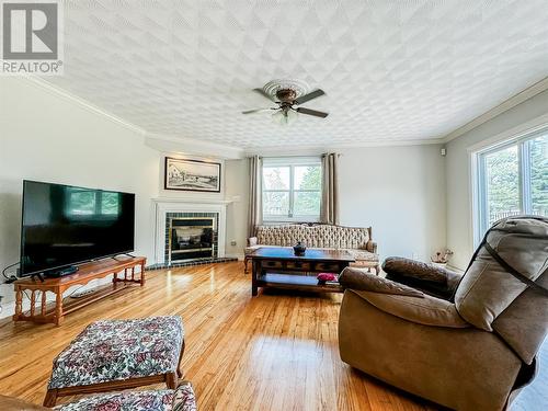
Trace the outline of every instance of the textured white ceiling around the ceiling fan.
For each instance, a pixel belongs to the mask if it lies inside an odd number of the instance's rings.
[[[149,133],[242,148],[439,138],[548,76],[546,0],[67,0],[55,85]],[[289,127],[251,90],[327,96]]]

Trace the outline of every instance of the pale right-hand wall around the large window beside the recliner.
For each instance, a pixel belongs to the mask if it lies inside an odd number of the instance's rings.
[[[468,148],[547,113],[548,91],[545,91],[447,144],[447,247],[455,252],[453,266],[465,270],[473,253]]]

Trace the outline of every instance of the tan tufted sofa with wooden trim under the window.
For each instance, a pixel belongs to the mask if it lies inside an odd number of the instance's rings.
[[[250,254],[261,247],[293,247],[302,241],[311,249],[346,250],[356,260],[357,266],[375,269],[379,273],[377,243],[372,239],[372,228],[342,227],[332,225],[281,225],[258,226],[255,237],[248,239],[244,265],[248,272]]]

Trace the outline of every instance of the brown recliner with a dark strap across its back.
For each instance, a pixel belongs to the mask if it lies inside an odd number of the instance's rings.
[[[387,259],[345,269],[341,358],[457,410],[501,410],[528,384],[548,329],[548,219],[496,222],[460,276]]]

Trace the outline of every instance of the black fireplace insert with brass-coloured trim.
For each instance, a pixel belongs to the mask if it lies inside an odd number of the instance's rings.
[[[215,256],[215,218],[172,218],[169,240],[170,263]]]

